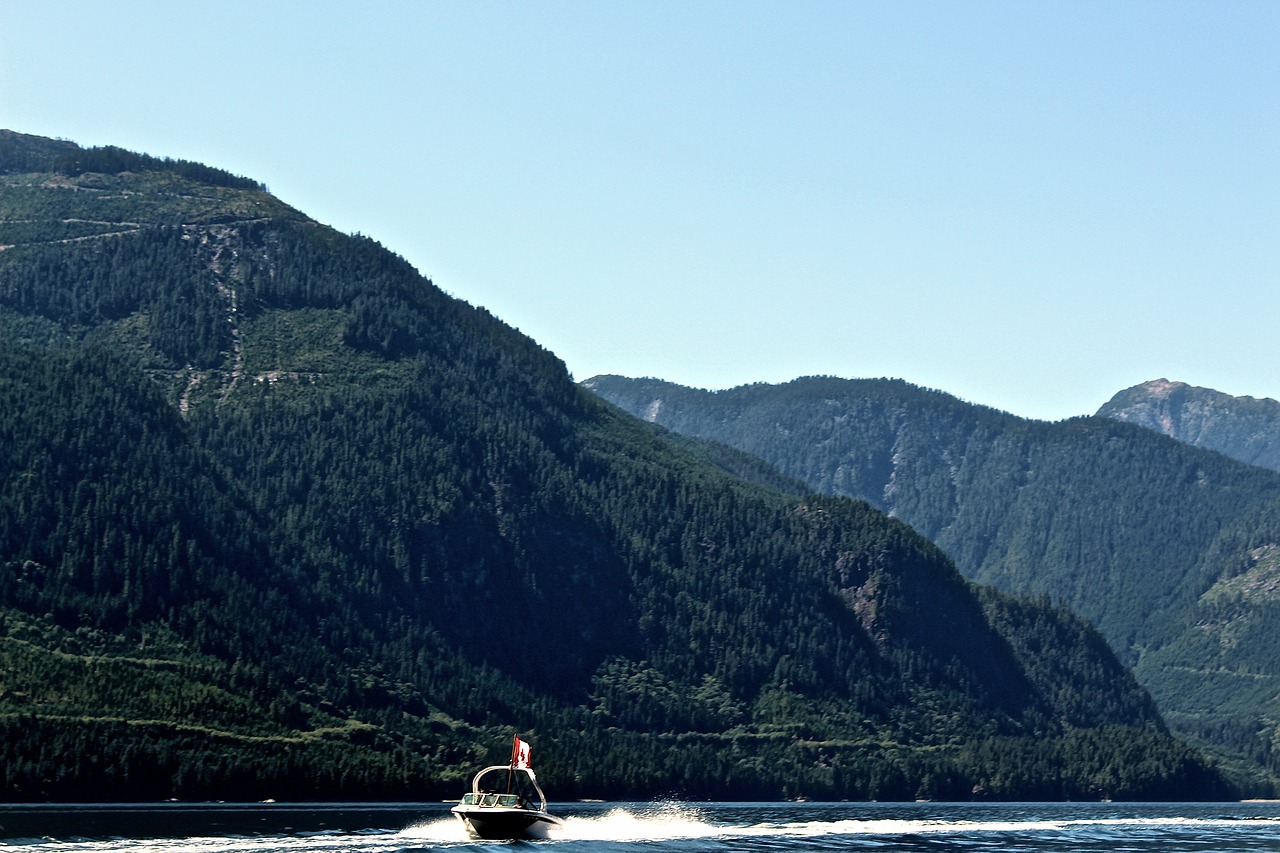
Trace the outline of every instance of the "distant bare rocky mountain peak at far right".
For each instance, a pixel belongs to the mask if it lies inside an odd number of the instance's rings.
[[[1097,414],[1280,471],[1280,402],[1275,400],[1231,397],[1153,379],[1121,391]]]

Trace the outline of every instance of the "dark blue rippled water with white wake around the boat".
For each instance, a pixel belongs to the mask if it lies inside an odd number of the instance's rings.
[[[0,806],[33,853],[1280,852],[1280,803],[575,803],[545,841],[468,841],[448,804]]]

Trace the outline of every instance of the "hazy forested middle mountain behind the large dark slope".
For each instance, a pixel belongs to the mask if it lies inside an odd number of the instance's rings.
[[[1280,771],[1280,475],[1103,418],[1030,421],[900,380],[582,383],[910,524],[970,579],[1088,619],[1174,731]]]

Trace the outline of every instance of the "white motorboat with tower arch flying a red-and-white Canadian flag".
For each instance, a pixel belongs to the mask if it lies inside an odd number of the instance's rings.
[[[485,767],[452,811],[477,839],[547,838],[563,821],[547,811],[547,795],[529,763],[529,744],[518,736],[511,762]]]

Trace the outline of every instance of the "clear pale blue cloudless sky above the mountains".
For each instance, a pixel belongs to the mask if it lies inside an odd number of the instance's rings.
[[[576,379],[1059,420],[1280,398],[1277,46],[1274,0],[0,0],[0,127],[261,181]]]

